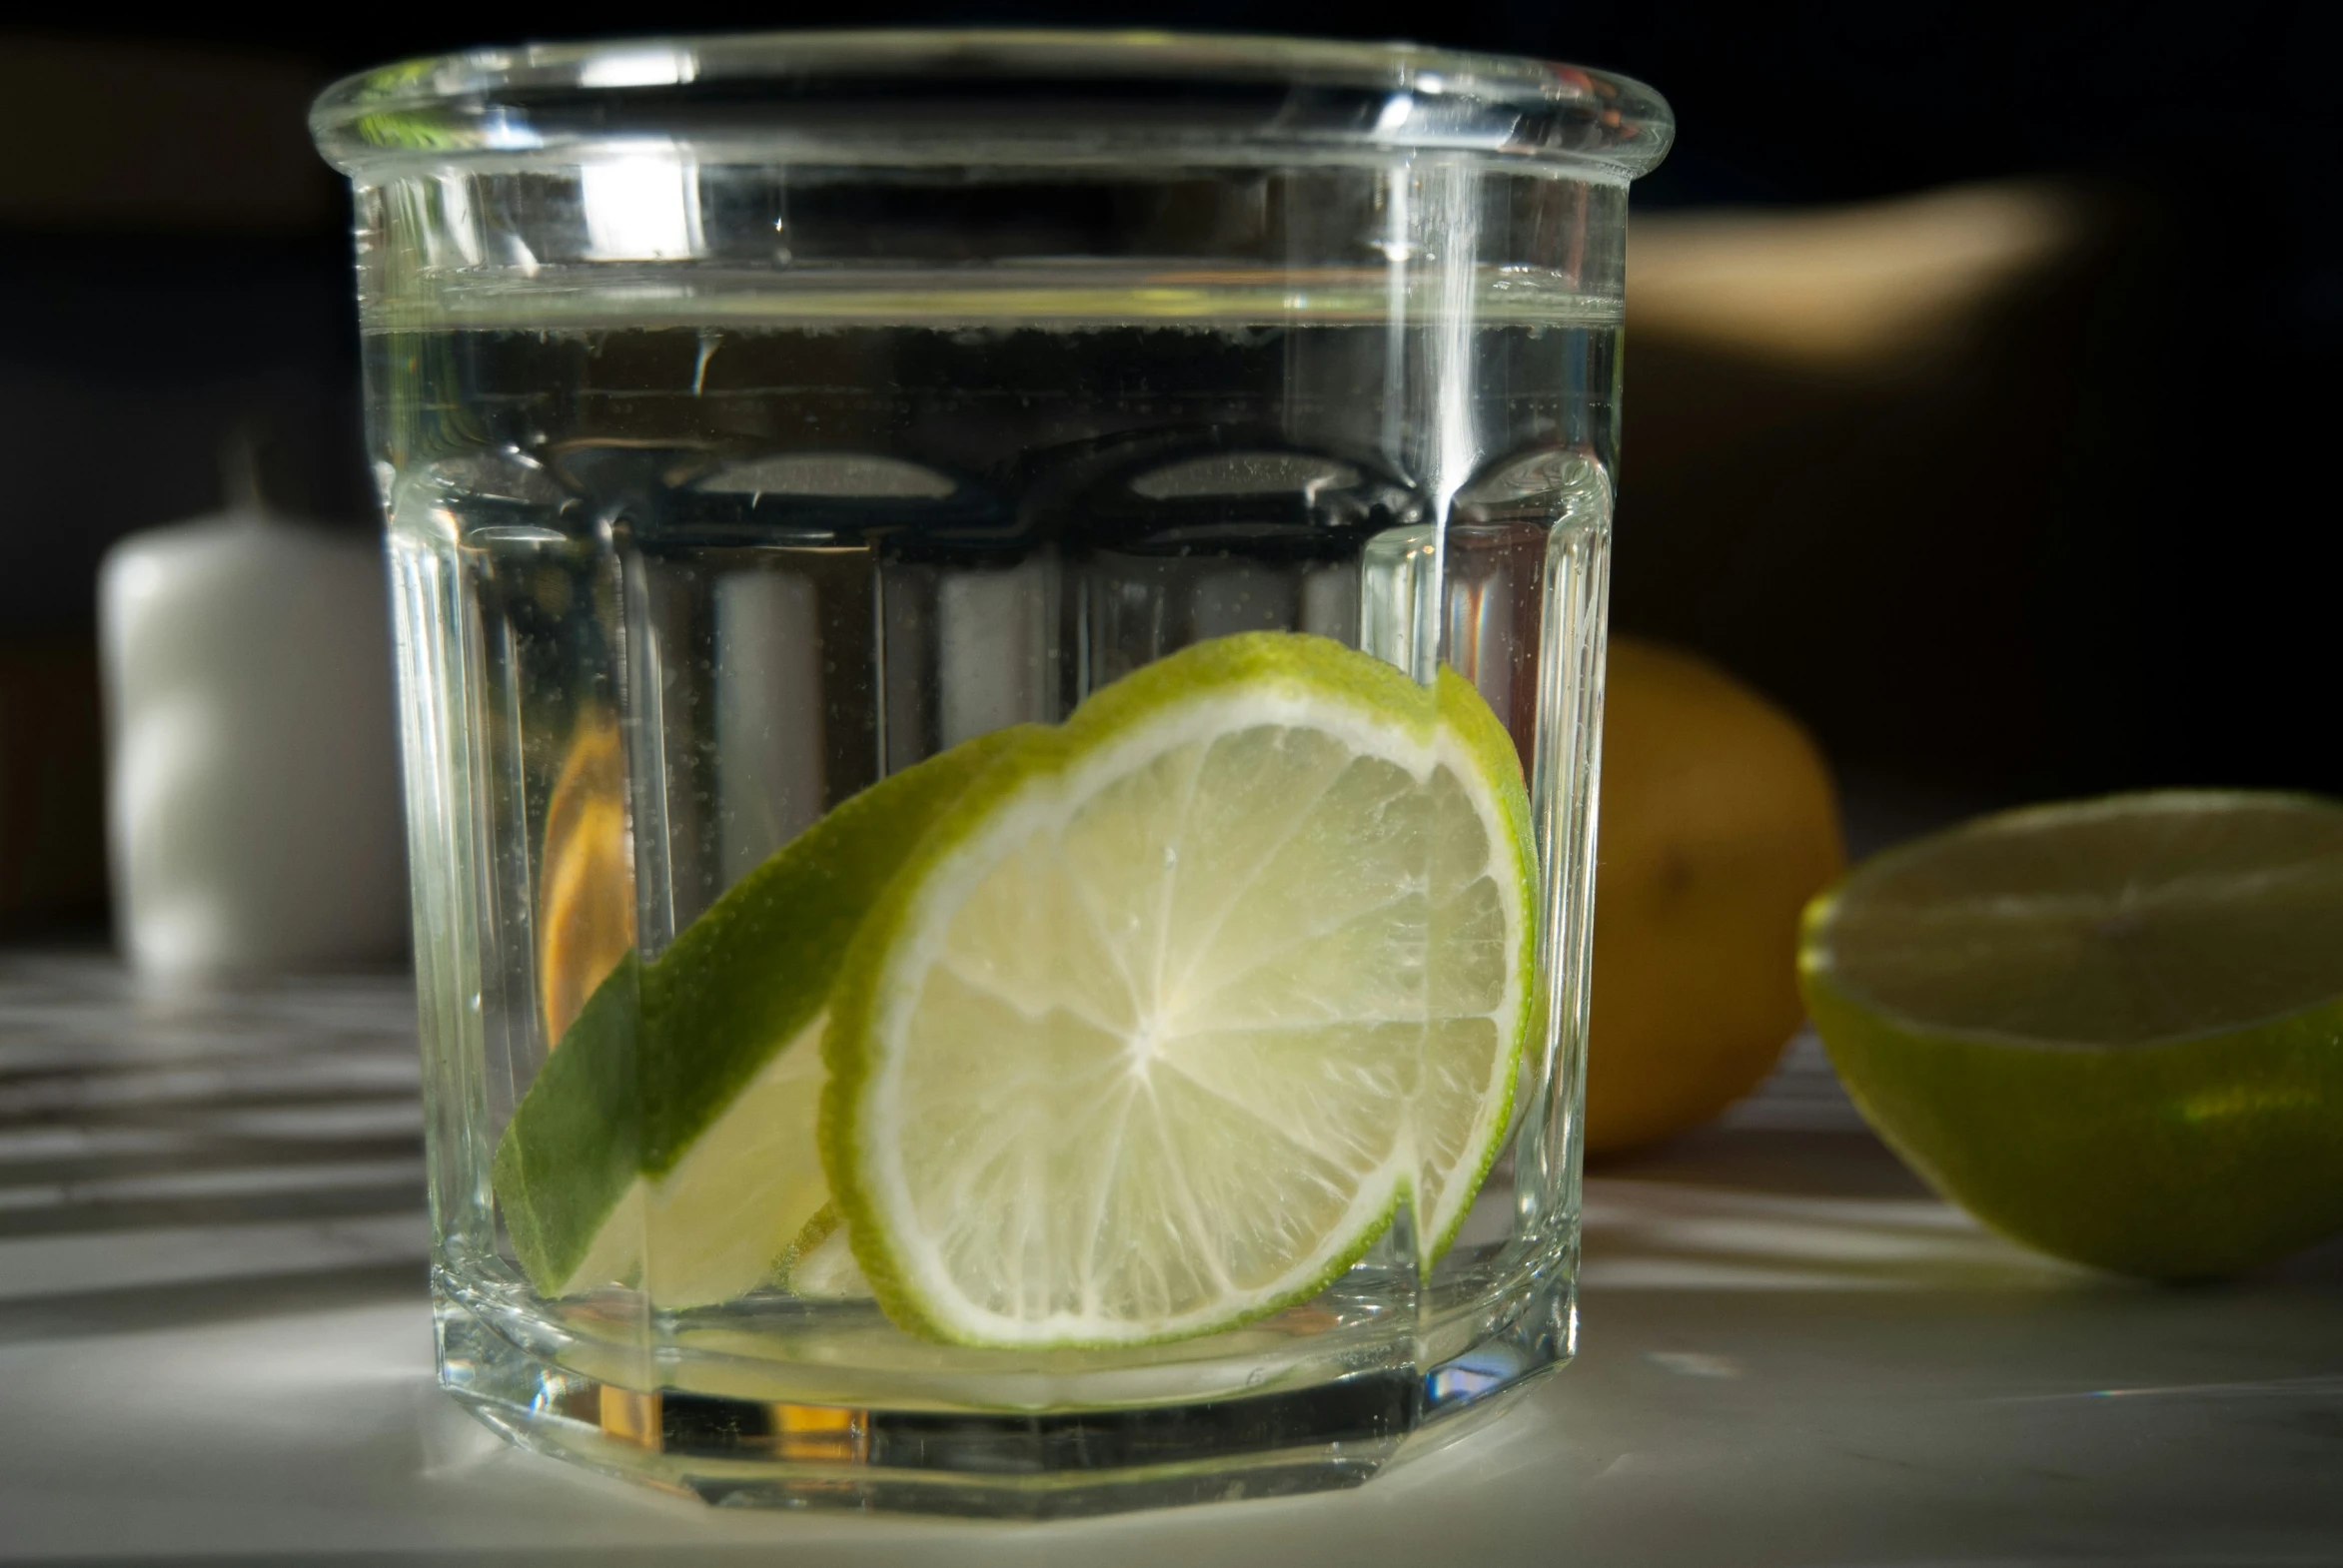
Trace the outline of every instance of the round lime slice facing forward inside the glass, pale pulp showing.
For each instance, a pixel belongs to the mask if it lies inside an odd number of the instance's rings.
[[[1197,644],[977,779],[848,953],[822,1151],[895,1322],[1209,1334],[1406,1208],[1429,1268],[1530,1025],[1521,763],[1455,672]]]

